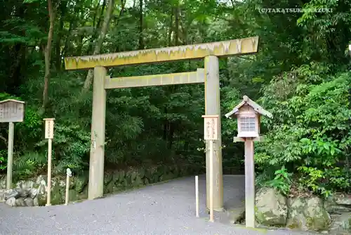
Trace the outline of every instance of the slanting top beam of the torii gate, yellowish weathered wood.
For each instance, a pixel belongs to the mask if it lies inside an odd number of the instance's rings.
[[[172,46],[160,49],[107,53],[95,56],[67,57],[65,58],[65,69],[79,70],[94,68],[96,66],[114,67],[119,65],[180,61],[204,58],[206,56],[239,56],[256,53],[257,51],[258,36],[223,42]]]

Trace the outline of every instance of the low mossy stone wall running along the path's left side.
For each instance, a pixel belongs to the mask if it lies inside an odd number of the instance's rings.
[[[105,172],[104,193],[116,193],[126,189],[164,182],[169,179],[203,174],[205,168],[197,165],[173,165]],[[35,179],[22,180],[6,190],[6,176],[0,176],[0,201],[11,206],[38,206],[46,204],[47,177],[39,175]],[[65,203],[65,176],[51,179],[51,204]],[[69,201],[79,201],[88,197],[88,174],[71,177]]]

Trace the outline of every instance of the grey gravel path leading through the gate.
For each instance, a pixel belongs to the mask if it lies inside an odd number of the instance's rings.
[[[200,218],[190,177],[68,206],[8,208],[1,203],[0,234],[300,234],[208,222],[204,179],[199,177]],[[225,176],[224,184],[225,201],[242,200],[244,177]]]

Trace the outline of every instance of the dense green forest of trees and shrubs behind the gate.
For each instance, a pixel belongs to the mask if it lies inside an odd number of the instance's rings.
[[[0,0],[0,100],[26,102],[15,124],[17,179],[46,172],[43,118],[55,118],[54,174],[88,170],[92,72],[63,58],[260,37],[259,53],[220,59],[221,112],[246,94],[269,110],[257,184],[284,194],[351,189],[351,1]],[[299,8],[263,13],[263,8]],[[317,13],[310,9],[329,9]],[[185,72],[203,61],[118,67],[114,77]],[[107,169],[204,166],[204,85],[107,91]],[[235,120],[223,118],[223,170],[242,172]],[[6,171],[8,124],[0,123]]]

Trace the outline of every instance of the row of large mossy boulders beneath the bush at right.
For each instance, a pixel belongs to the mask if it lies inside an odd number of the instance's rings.
[[[351,195],[286,198],[275,189],[262,188],[256,193],[256,221],[268,227],[351,234]]]

